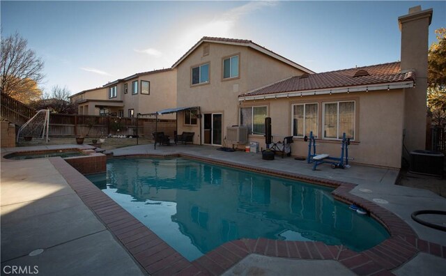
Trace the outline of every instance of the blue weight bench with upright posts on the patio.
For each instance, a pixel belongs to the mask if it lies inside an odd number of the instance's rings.
[[[313,136],[313,132],[309,132],[309,137],[305,136],[304,141],[309,141],[308,144],[308,157],[307,163],[313,163],[313,171],[316,171],[316,167],[319,164],[330,163],[332,164],[332,169],[349,167],[348,165],[348,145],[350,145],[350,138],[346,138],[346,133],[342,134],[341,140],[341,156],[339,158],[331,157],[330,155],[316,154],[316,139]]]

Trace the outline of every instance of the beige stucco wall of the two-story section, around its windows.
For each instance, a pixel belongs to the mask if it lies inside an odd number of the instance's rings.
[[[208,43],[209,54],[203,56],[203,44],[178,65],[177,106],[201,108],[201,114],[222,113],[222,139],[226,127],[238,125],[238,95],[252,89],[302,75],[302,71],[272,59],[254,49],[238,45]],[[239,54],[239,77],[223,79],[223,59]],[[192,67],[209,63],[209,83],[191,85]],[[203,125],[203,124],[202,124]],[[184,125],[183,113],[178,114],[178,132],[195,132],[194,144],[199,144],[199,125]]]

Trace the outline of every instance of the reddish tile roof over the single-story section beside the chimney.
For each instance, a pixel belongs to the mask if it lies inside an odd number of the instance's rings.
[[[364,70],[367,71],[368,75],[363,72]],[[374,66],[364,66],[291,77],[289,79],[284,79],[281,82],[276,82],[275,84],[265,86],[261,89],[256,89],[254,91],[244,93],[242,95],[239,95],[239,97],[252,95],[268,95],[294,91],[334,89],[372,84],[388,84],[394,82],[407,82],[410,80],[415,82],[415,72],[401,72],[400,62],[397,61],[392,63],[378,64]]]

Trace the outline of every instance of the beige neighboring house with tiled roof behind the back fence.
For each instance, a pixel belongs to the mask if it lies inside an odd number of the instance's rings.
[[[136,117],[176,106],[176,72],[141,72],[70,96],[79,114]],[[174,118],[172,115],[163,118]]]

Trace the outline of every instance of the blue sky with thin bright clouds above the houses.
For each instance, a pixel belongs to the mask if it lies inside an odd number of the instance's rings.
[[[45,61],[40,88],[72,94],[170,68],[203,36],[252,40],[314,72],[399,61],[398,17],[446,1],[0,1],[1,37],[17,32]]]

